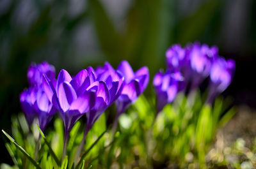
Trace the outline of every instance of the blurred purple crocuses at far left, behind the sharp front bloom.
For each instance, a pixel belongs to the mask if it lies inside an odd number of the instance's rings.
[[[43,76],[47,75],[55,83],[55,68],[47,62],[36,65],[31,64],[28,69],[29,88],[24,89],[20,94],[20,105],[25,114],[28,124],[31,125],[35,118],[39,121],[39,126],[44,131],[52,116],[56,113],[56,108],[43,89]]]

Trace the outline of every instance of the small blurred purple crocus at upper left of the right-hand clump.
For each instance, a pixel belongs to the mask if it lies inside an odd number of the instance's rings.
[[[165,55],[168,70],[182,69],[186,60],[186,50],[184,50],[179,44],[168,48]]]

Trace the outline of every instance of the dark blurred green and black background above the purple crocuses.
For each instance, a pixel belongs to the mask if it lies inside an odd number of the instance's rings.
[[[20,112],[31,62],[74,74],[126,59],[134,70],[148,66],[152,79],[170,45],[195,40],[236,61],[224,95],[255,108],[255,10],[253,0],[0,0],[0,128],[10,133]],[[11,163],[0,143],[1,163]]]

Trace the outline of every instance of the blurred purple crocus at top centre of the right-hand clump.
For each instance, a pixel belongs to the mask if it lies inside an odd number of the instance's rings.
[[[198,87],[211,71],[212,62],[218,57],[218,48],[200,45],[196,42],[187,47],[187,57],[190,62],[192,89]]]

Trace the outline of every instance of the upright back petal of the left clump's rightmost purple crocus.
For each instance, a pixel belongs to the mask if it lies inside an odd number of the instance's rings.
[[[120,62],[117,70],[122,73],[127,83],[131,82],[132,78],[134,78],[134,72],[127,61]]]

